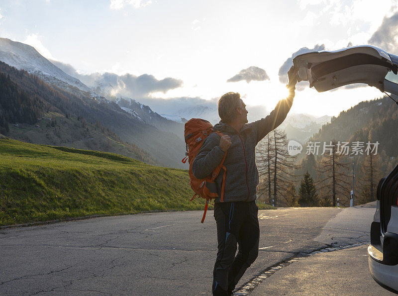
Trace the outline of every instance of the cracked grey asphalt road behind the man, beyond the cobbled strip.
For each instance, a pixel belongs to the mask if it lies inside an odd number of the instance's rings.
[[[300,253],[344,240],[369,241],[373,213],[371,207],[259,211],[259,257],[239,285]],[[0,293],[211,295],[215,221],[208,211],[201,224],[201,214],[136,214],[2,229]],[[355,215],[366,216],[366,222],[357,218],[347,226]]]

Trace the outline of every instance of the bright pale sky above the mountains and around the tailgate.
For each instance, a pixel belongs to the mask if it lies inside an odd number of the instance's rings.
[[[301,48],[373,44],[398,54],[397,33],[397,0],[0,1],[0,37],[81,75],[173,78],[177,85],[147,96],[214,100],[239,92],[268,110],[288,95],[284,64]],[[382,95],[371,87],[305,87],[292,112],[337,116]]]

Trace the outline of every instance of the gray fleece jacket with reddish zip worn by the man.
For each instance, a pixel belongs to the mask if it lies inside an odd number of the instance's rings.
[[[232,142],[224,161],[226,168],[224,201],[252,201],[257,198],[256,145],[285,120],[294,97],[295,91],[291,90],[289,97],[281,99],[270,115],[243,125],[239,132],[222,121],[214,125],[214,130],[229,135]],[[198,179],[210,175],[221,162],[224,151],[221,150],[219,143],[220,136],[216,133],[211,133],[204,140],[193,163],[193,173]],[[219,194],[224,173],[221,169],[215,179]],[[220,197],[214,201],[220,202]]]

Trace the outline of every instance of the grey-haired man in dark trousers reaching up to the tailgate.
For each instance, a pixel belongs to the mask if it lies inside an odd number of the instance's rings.
[[[221,121],[214,125],[224,135],[211,133],[204,141],[193,163],[198,179],[207,177],[219,165],[227,152],[224,166],[215,179],[221,192],[226,174],[224,200],[214,200],[218,251],[213,270],[213,295],[231,295],[246,269],[258,255],[260,227],[256,205],[258,171],[256,145],[286,118],[295,97],[296,71],[289,72],[289,96],[278,102],[265,118],[247,123],[246,105],[238,93],[227,93],[218,100]],[[238,254],[236,244],[238,243]]]

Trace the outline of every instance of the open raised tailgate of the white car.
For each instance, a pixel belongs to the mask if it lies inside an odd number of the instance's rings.
[[[363,83],[398,95],[398,56],[370,45],[296,56],[298,82],[308,81],[318,92]]]

